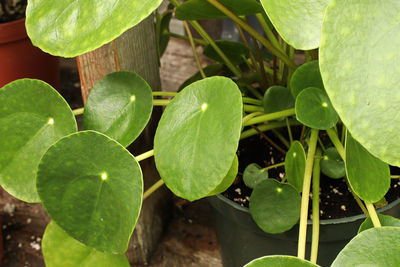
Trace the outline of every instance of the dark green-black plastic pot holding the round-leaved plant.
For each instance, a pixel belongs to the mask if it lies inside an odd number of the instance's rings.
[[[299,228],[294,226],[282,234],[263,232],[251,218],[249,209],[217,195],[208,198],[213,208],[217,238],[225,267],[243,266],[251,260],[265,255],[296,255]],[[383,214],[400,217],[400,199],[379,209]],[[318,264],[330,266],[340,250],[358,231],[365,215],[343,219],[321,220]],[[310,256],[311,221],[307,229],[306,257]]]

